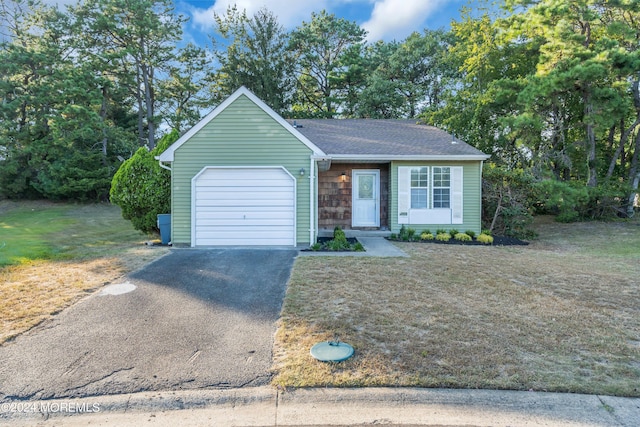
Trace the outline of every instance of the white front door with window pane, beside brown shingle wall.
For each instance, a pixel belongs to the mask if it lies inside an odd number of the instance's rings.
[[[380,170],[354,169],[352,227],[380,227]]]

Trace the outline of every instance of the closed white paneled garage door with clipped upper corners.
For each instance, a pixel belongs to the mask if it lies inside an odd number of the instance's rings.
[[[283,168],[206,168],[193,203],[193,246],[295,244],[295,179]]]

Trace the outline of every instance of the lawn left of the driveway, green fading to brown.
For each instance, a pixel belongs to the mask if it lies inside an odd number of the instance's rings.
[[[0,202],[0,344],[167,249],[109,204]]]

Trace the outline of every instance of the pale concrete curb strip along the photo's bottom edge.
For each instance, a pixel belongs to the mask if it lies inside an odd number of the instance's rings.
[[[563,393],[416,388],[255,388],[149,392],[33,403],[49,414],[0,412],[17,426],[624,426],[640,399]],[[15,408],[14,408],[15,409]],[[23,408],[24,409],[24,408]]]

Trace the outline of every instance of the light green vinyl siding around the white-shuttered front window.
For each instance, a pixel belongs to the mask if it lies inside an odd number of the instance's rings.
[[[463,222],[462,224],[406,224],[406,227],[420,232],[424,229],[435,230],[452,229],[459,231],[473,230],[476,234],[481,231],[482,218],[482,162],[480,161],[429,161],[429,162],[409,162],[394,161],[391,163],[391,178],[389,189],[389,227],[392,232],[400,231],[401,224],[398,223],[398,167],[400,166],[462,166],[462,192],[463,192]],[[429,183],[431,185],[431,182]]]

